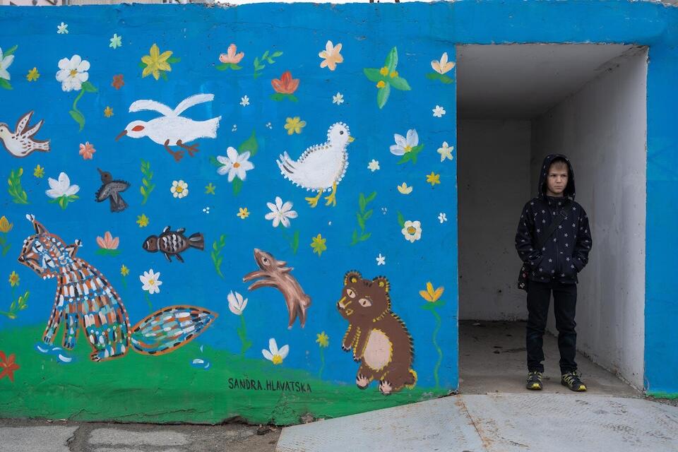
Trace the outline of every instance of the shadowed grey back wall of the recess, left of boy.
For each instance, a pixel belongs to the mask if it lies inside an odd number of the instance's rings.
[[[459,318],[526,319],[513,241],[530,186],[530,121],[460,120]]]

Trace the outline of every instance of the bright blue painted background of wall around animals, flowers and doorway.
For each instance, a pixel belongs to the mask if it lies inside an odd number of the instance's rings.
[[[399,314],[415,339],[415,369],[418,384],[432,386],[432,368],[436,354],[431,346],[432,316],[420,309],[418,295],[427,281],[444,285],[446,306],[439,343],[444,347],[441,385],[457,386],[456,327],[456,160],[439,161],[435,152],[443,141],[455,144],[455,112],[453,85],[433,83],[424,78],[430,72],[430,61],[448,52],[453,59],[456,44],[489,44],[504,42],[614,42],[650,46],[648,69],[648,205],[646,256],[646,388],[650,393],[678,392],[678,348],[675,347],[674,324],[678,307],[672,286],[676,270],[674,254],[678,242],[674,234],[677,224],[678,193],[673,190],[678,178],[678,132],[674,126],[674,105],[678,97],[675,74],[678,72],[677,12],[675,8],[644,2],[625,1],[559,1],[499,2],[458,1],[453,4],[380,4],[380,5],[281,5],[258,4],[237,8],[204,8],[202,6],[116,6],[86,8],[2,8],[4,28],[0,30],[0,46],[5,49],[20,44],[11,66],[13,91],[0,93],[0,121],[13,124],[16,119],[35,109],[36,119],[45,119],[40,136],[52,139],[52,153],[32,155],[15,160],[3,155],[5,172],[23,165],[27,170],[23,184],[32,205],[14,206],[6,193],[2,196],[4,215],[15,227],[11,242],[17,244],[30,232],[28,222],[20,220],[26,211],[35,213],[47,227],[67,241],[83,239],[80,255],[107,275],[118,275],[120,263],[130,269],[129,289],[124,296],[131,321],[144,316],[148,307],[143,302],[141,285],[136,275],[153,268],[162,272],[160,295],[151,297],[154,307],[177,302],[193,302],[219,311],[221,316],[201,340],[215,347],[237,352],[239,343],[234,333],[237,318],[227,309],[229,290],[245,292],[240,278],[254,270],[251,249],[259,247],[284,258],[295,267],[295,275],[304,290],[313,298],[309,323],[302,331],[298,324],[287,331],[286,311],[280,295],[260,290],[248,295],[246,316],[248,334],[254,347],[248,355],[261,359],[261,348],[268,337],[278,344],[290,345],[290,356],[284,366],[314,371],[318,363],[316,333],[326,331],[331,345],[326,353],[325,377],[352,383],[355,366],[338,347],[345,323],[335,312],[334,303],[342,286],[345,270],[361,270],[366,277],[386,275],[392,283],[393,310]],[[69,24],[69,35],[57,35],[57,25]],[[123,46],[109,49],[109,38],[116,32],[124,37]],[[320,52],[326,40],[343,43],[345,62],[337,71],[319,68]],[[182,61],[172,65],[169,81],[141,79],[137,64],[148,48],[157,42],[161,51],[171,49]],[[216,71],[217,57],[230,42],[244,51],[245,69],[237,73]],[[373,83],[362,75],[364,67],[379,67],[391,47],[398,47],[398,71],[412,85],[408,93],[394,91],[384,109],[376,107]],[[251,77],[251,61],[266,49],[280,49],[285,54],[279,62],[268,66],[261,78]],[[68,115],[73,93],[61,93],[54,80],[57,61],[72,54],[81,54],[90,61],[90,81],[100,93],[85,95],[79,103],[87,124],[78,133]],[[25,73],[38,66],[42,74],[37,83],[25,81]],[[296,95],[298,104],[273,102],[270,79],[291,70],[301,84]],[[110,86],[112,75],[125,74],[121,90]],[[345,104],[336,106],[331,97],[337,91],[345,96]],[[143,114],[126,112],[133,100],[152,98],[173,105],[194,93],[214,93],[215,102],[191,109],[191,117],[208,119],[221,114],[223,119],[215,140],[202,139],[201,153],[185,157],[177,164],[158,145],[145,139],[113,138],[127,122]],[[251,105],[241,107],[242,95]],[[114,116],[105,119],[103,109],[110,105]],[[443,105],[447,114],[434,118],[431,109]],[[286,117],[299,116],[308,125],[303,133],[288,136],[283,129]],[[273,129],[267,129],[267,122]],[[338,190],[338,206],[310,209],[304,203],[304,191],[280,177],[275,156],[288,150],[298,155],[308,145],[324,141],[328,126],[346,122],[357,138],[349,147],[350,166]],[[237,125],[237,131],[232,126]],[[393,133],[405,134],[417,129],[424,152],[415,166],[396,165],[398,157],[388,152]],[[259,139],[259,153],[251,159],[255,169],[248,173],[239,196],[234,197],[225,181],[207,160],[209,155],[225,155],[229,145],[242,143],[252,130]],[[77,155],[78,143],[90,141],[97,148],[94,160],[83,162]],[[456,154],[456,151],[455,151]],[[157,187],[147,205],[139,205],[136,194],[141,181],[139,159],[150,160]],[[381,169],[370,172],[367,163],[379,160]],[[62,211],[47,204],[44,189],[46,178],[34,180],[30,171],[40,162],[46,177],[57,177],[66,171],[81,186],[82,198]],[[129,179],[133,187],[126,198],[130,208],[112,215],[104,205],[90,200],[98,186],[96,166],[112,171],[115,177]],[[425,174],[441,174],[441,184],[434,189],[424,181]],[[172,180],[189,182],[191,194],[175,200],[169,193]],[[213,182],[216,196],[203,193],[203,186]],[[396,191],[401,182],[415,187],[403,196]],[[377,191],[374,216],[367,230],[372,237],[357,246],[347,246],[356,227],[355,210],[360,192]],[[266,202],[281,196],[292,201],[299,218],[292,220],[291,230],[300,231],[297,254],[292,254],[283,231],[273,229],[263,219]],[[210,214],[203,208],[210,206]],[[248,207],[251,216],[239,220],[237,208]],[[386,214],[381,213],[386,208]],[[405,242],[396,220],[396,212],[406,219],[422,220],[422,239]],[[448,222],[436,219],[446,212]],[[145,213],[150,226],[140,229],[134,221]],[[115,223],[112,223],[115,220]],[[331,222],[331,224],[330,224]],[[141,242],[150,233],[159,233],[165,225],[186,226],[188,232],[200,231],[209,243],[219,234],[227,234],[227,254],[223,264],[225,279],[218,278],[208,252],[189,250],[186,264],[167,264],[160,255],[141,251]],[[123,253],[118,258],[96,257],[94,239],[105,230],[121,237]],[[290,230],[286,231],[290,232]],[[321,233],[328,250],[321,257],[311,253],[311,237]],[[3,259],[7,272],[13,268],[11,254]],[[386,256],[386,266],[377,267],[377,254]],[[35,275],[18,270],[22,284],[31,284],[32,303],[21,313],[16,324],[42,323],[47,318],[53,286],[31,283]],[[112,279],[115,278],[112,276]],[[2,290],[7,286],[3,285]],[[4,292],[6,293],[6,292]],[[0,329],[10,321],[0,318]]]

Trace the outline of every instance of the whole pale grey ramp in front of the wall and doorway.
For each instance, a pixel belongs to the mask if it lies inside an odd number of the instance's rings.
[[[283,429],[278,452],[675,452],[678,407],[588,393],[472,394]]]

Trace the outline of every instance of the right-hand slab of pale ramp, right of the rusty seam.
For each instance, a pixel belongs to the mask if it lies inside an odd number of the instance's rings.
[[[678,408],[592,394],[462,396],[487,452],[678,450]]]

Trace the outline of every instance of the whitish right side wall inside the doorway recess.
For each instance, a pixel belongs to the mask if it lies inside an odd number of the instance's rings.
[[[593,228],[578,287],[577,347],[642,388],[647,51],[633,49],[612,63],[533,121],[531,177],[549,153],[571,159],[576,201]]]

